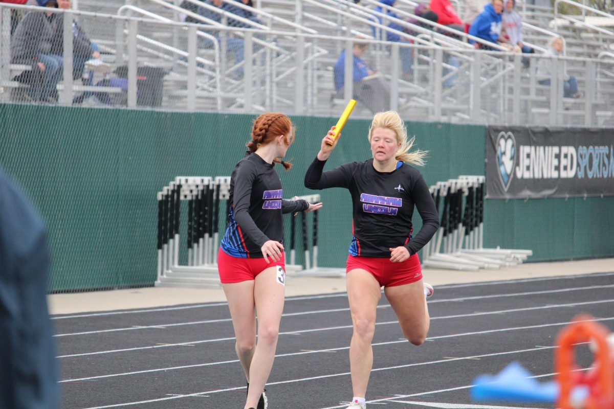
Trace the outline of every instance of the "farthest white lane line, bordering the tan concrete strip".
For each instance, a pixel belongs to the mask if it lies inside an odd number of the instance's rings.
[[[437,286],[437,288],[462,288],[462,287],[477,287],[477,286],[488,286],[488,285],[499,285],[499,284],[510,285],[510,284],[516,284],[516,283],[531,283],[533,281],[576,280],[578,278],[583,278],[583,277],[599,277],[602,275],[604,276],[614,275],[614,272],[612,273],[588,273],[588,274],[582,274],[582,275],[561,275],[561,276],[556,276],[556,277],[523,278],[521,280],[483,281],[480,283],[441,285],[441,286]],[[334,294],[318,294],[314,296],[287,297],[286,301],[311,300],[311,299],[345,297],[345,296],[346,296],[346,292],[335,292]],[[63,315],[63,316],[52,316],[51,319],[87,318],[87,317],[92,317],[92,316],[139,314],[139,313],[160,312],[160,311],[188,310],[190,308],[219,307],[220,305],[228,305],[228,303],[227,302],[214,302],[214,303],[208,303],[208,304],[184,305],[182,307],[145,308],[145,309],[140,309],[140,310],[110,311],[110,312],[89,313],[89,314],[79,314],[79,315]]]

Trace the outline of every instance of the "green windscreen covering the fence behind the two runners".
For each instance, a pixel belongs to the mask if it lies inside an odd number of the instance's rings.
[[[254,117],[0,105],[0,165],[23,186],[49,227],[50,291],[153,285],[157,192],[180,175],[230,176],[244,155]],[[305,170],[336,123],[325,117],[292,120],[297,138],[287,159],[294,166],[289,172],[278,169],[288,198],[314,193],[303,186]],[[370,158],[369,124],[349,121],[325,169]],[[429,151],[420,169],[427,183],[484,174],[484,126],[407,126],[416,136],[414,148]],[[319,193],[324,208],[318,264],[343,267],[351,240],[349,193]],[[486,201],[484,246],[531,249],[529,261],[613,256],[612,208],[613,197]],[[418,212],[414,223],[419,229]],[[311,243],[311,228],[308,232]]]

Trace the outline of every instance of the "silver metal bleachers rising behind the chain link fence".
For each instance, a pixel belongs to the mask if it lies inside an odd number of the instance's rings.
[[[378,16],[372,11],[375,0],[363,0],[362,6],[352,0],[254,0],[262,25],[254,25],[256,29],[251,33],[244,29],[228,29],[223,24],[183,23],[184,9],[180,4],[179,0],[79,2],[74,18],[99,44],[104,63],[114,68],[123,66],[128,73],[126,76],[134,75],[128,78],[126,106],[249,113],[281,110],[301,115],[335,116],[344,103],[338,95],[332,97],[335,94],[332,66],[341,50],[352,44],[356,36],[372,38],[374,27],[376,33],[387,30],[378,26]],[[455,4],[461,14],[464,1]],[[397,0],[394,10],[406,19],[414,17],[415,5],[411,0]],[[4,18],[1,21],[6,21],[6,10],[8,6],[0,6]],[[535,55],[530,55],[528,68],[523,67],[519,56],[513,53],[474,50],[467,44],[465,34],[459,33],[460,40],[437,34],[435,31],[441,27],[436,24],[431,31],[403,23],[405,28],[416,31],[414,36],[408,36],[411,44],[400,45],[413,49],[414,75],[409,80],[400,78],[398,55],[392,52],[399,47],[398,43],[368,40],[371,47],[363,58],[391,85],[391,109],[398,110],[407,119],[458,123],[613,124],[614,58],[608,51],[614,44],[614,33],[609,34],[612,28],[608,26],[607,17],[585,9],[583,24],[578,25],[574,23],[577,16],[555,13],[548,7],[518,4],[516,10],[526,23],[527,44],[537,50]],[[597,17],[601,20],[597,21]],[[556,29],[552,21],[556,22]],[[221,34],[215,34],[217,31]],[[6,30],[1,32],[1,101],[29,102],[18,97],[15,90],[23,85],[13,80],[20,69],[28,67],[10,64],[7,55],[10,38],[7,39]],[[584,97],[563,98],[562,86],[553,86],[553,90],[535,80],[537,59],[542,58],[540,51],[546,48],[553,35],[565,39],[566,56],[558,59],[559,83],[564,72],[562,66],[565,66],[569,74],[577,77]],[[225,36],[240,36],[245,44],[253,45],[245,50],[246,61],[251,64],[235,63],[233,53],[226,50]],[[206,41],[209,45],[203,46]],[[445,56],[449,55],[456,56],[459,67],[446,63]],[[148,82],[147,75],[141,74],[151,73],[153,68],[163,74],[158,78],[150,77]],[[243,77],[237,75],[241,70]],[[94,72],[93,75],[96,83],[114,73]],[[451,76],[456,77],[454,85],[443,86],[445,79]],[[556,79],[553,83],[557,83]],[[144,90],[143,86],[155,86],[156,90]],[[346,86],[351,88],[351,82]],[[73,83],[72,87],[64,88],[61,82],[58,89],[61,95],[58,102],[66,105],[71,104],[71,97],[83,91],[84,86]],[[93,90],[104,91],[100,87]],[[109,91],[118,93],[121,90]],[[145,97],[153,93],[161,95],[153,99]],[[104,106],[95,98],[90,98],[85,105]],[[356,115],[368,117],[371,113],[359,107]]]

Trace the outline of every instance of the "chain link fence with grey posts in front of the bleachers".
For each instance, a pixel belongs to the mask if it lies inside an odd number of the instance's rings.
[[[229,15],[211,25],[158,3],[157,13],[128,4],[116,15],[0,3],[0,100],[329,116],[354,97],[365,118],[393,109],[453,123],[614,123],[611,58],[484,52],[424,32],[387,42],[364,28],[346,37],[246,29],[229,27]],[[180,11],[199,23],[182,23]],[[564,92],[570,75],[576,98]]]

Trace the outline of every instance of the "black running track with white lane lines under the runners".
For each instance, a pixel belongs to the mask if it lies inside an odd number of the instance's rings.
[[[477,375],[511,361],[550,380],[556,334],[578,313],[612,331],[614,272],[439,286],[429,311],[429,338],[413,346],[382,297],[369,408],[547,408],[472,402],[469,388]],[[243,409],[244,375],[225,303],[56,315],[53,322],[63,409]],[[269,408],[344,408],[352,397],[351,334],[346,294],[287,298]],[[579,364],[591,358],[578,347]]]

